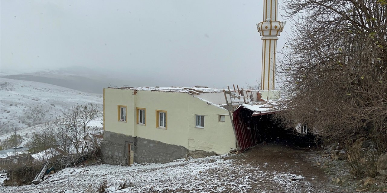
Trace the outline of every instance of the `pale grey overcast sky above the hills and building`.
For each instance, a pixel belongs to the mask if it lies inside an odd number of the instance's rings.
[[[262,0],[1,0],[0,70],[84,66],[147,80],[144,86],[245,86],[260,80],[255,23],[263,20],[262,6]]]

